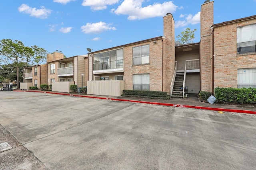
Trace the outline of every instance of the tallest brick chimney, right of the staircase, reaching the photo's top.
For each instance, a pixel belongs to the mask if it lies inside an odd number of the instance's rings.
[[[200,78],[201,91],[212,92],[212,45],[211,26],[213,25],[213,4],[207,2],[201,6],[200,41]]]

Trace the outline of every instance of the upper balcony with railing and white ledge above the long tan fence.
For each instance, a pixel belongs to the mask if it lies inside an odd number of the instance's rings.
[[[123,71],[123,70],[124,70],[123,59],[93,64],[94,73],[102,72],[102,71],[108,72],[108,71]]]

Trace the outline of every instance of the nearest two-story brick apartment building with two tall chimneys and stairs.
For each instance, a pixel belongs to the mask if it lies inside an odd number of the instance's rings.
[[[168,13],[163,36],[89,53],[88,94],[127,89],[182,97],[218,86],[256,87],[256,16],[214,24],[213,13],[214,1],[205,1],[199,43],[176,44]]]

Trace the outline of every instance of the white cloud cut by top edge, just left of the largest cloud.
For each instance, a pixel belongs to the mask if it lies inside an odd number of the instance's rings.
[[[107,5],[118,3],[119,0],[84,0],[82,6],[90,6],[91,10],[98,11],[107,8]]]

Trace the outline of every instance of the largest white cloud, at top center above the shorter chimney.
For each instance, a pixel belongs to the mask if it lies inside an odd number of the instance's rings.
[[[152,17],[162,17],[168,12],[175,12],[178,6],[174,5],[172,1],[166,1],[162,4],[154,3],[146,7],[142,7],[144,0],[124,0],[117,9],[112,9],[114,14],[128,15],[128,20],[141,20]]]

